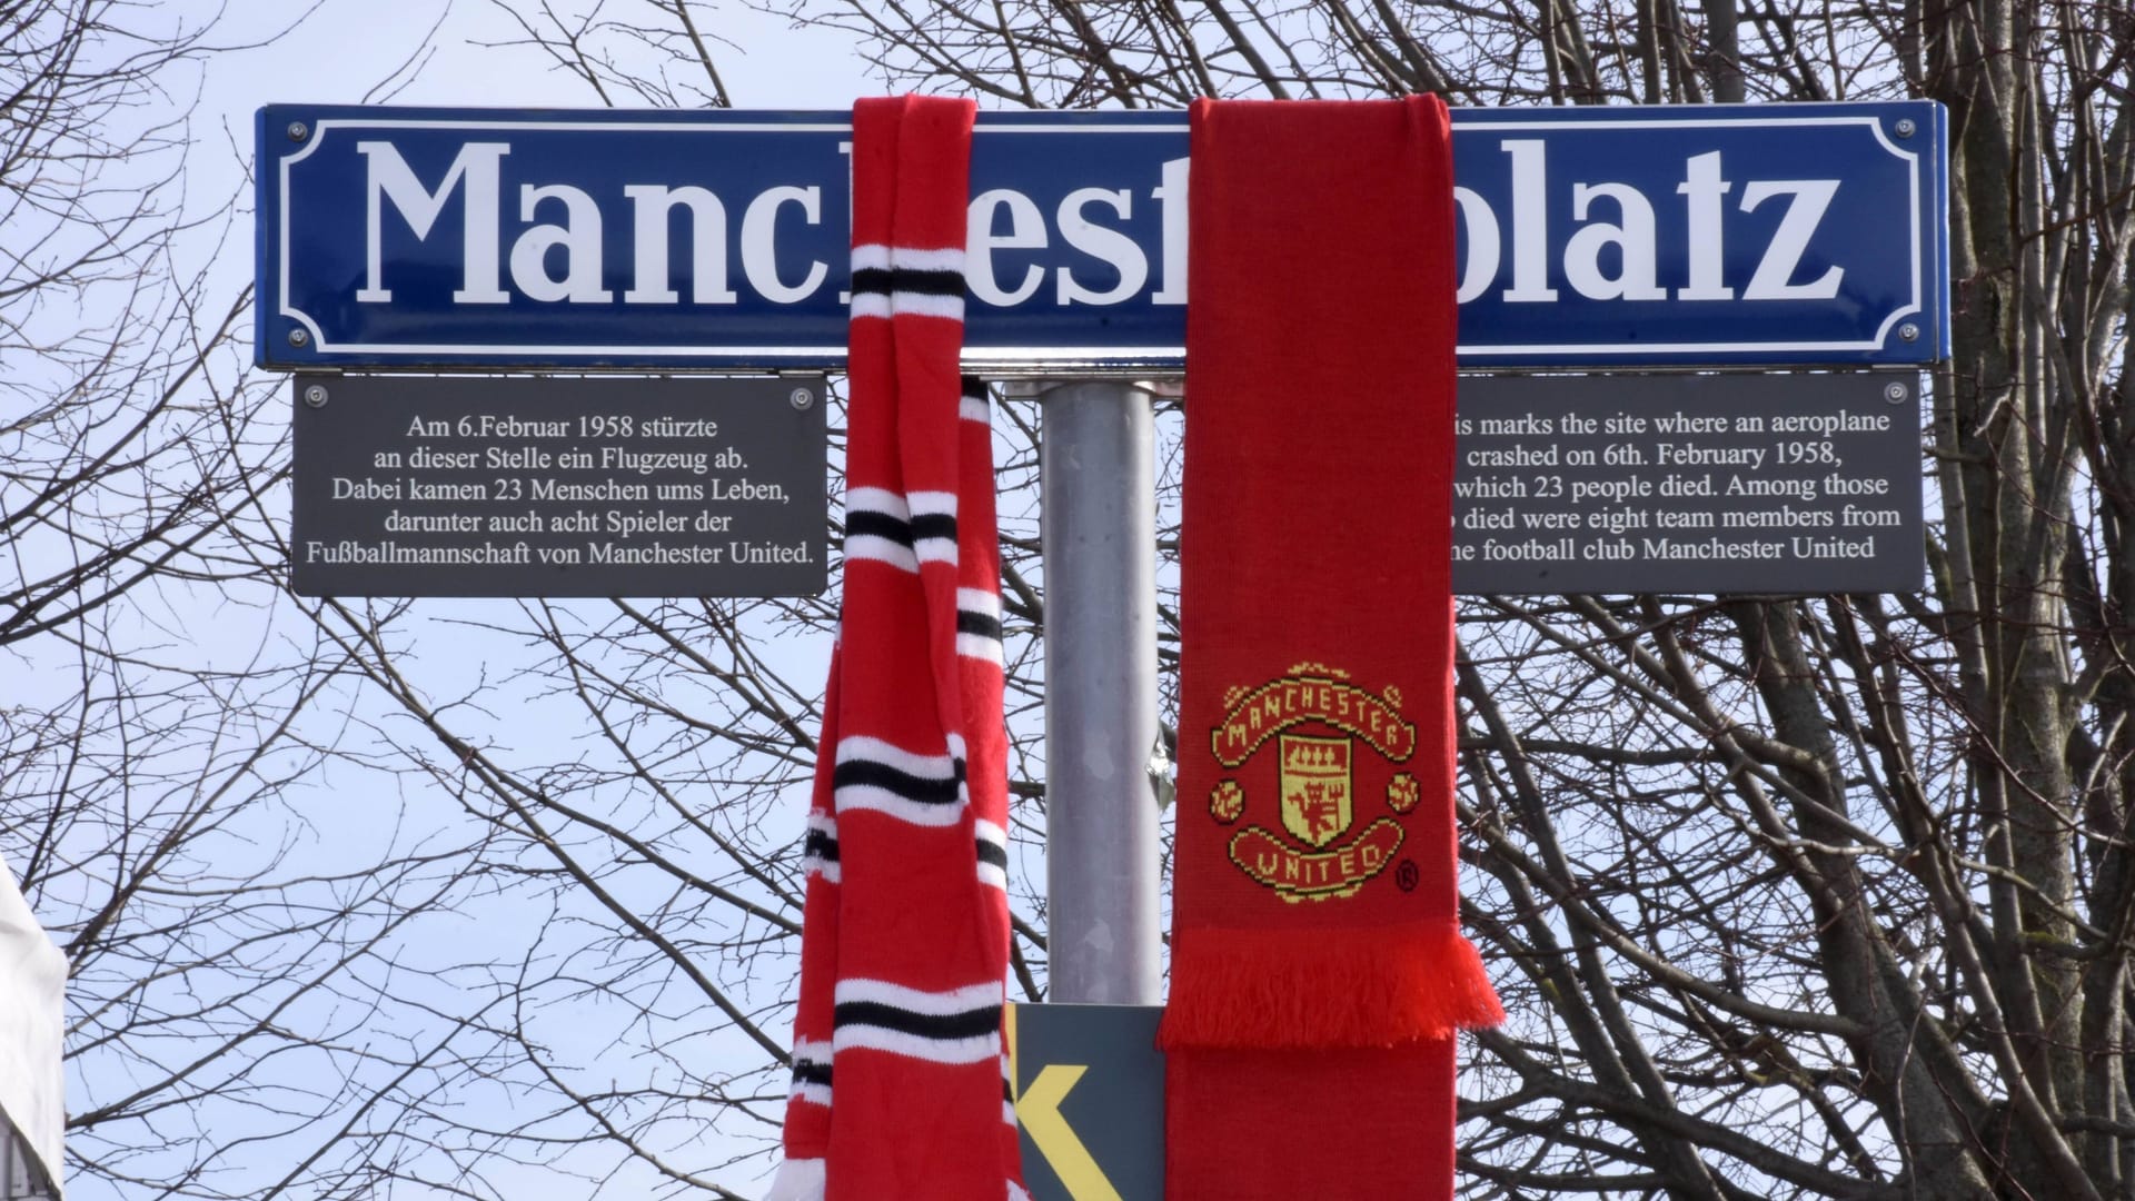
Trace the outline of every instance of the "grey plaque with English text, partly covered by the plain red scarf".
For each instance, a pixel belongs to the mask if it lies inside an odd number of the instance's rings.
[[[1915,590],[1917,378],[1462,378],[1454,592]]]

